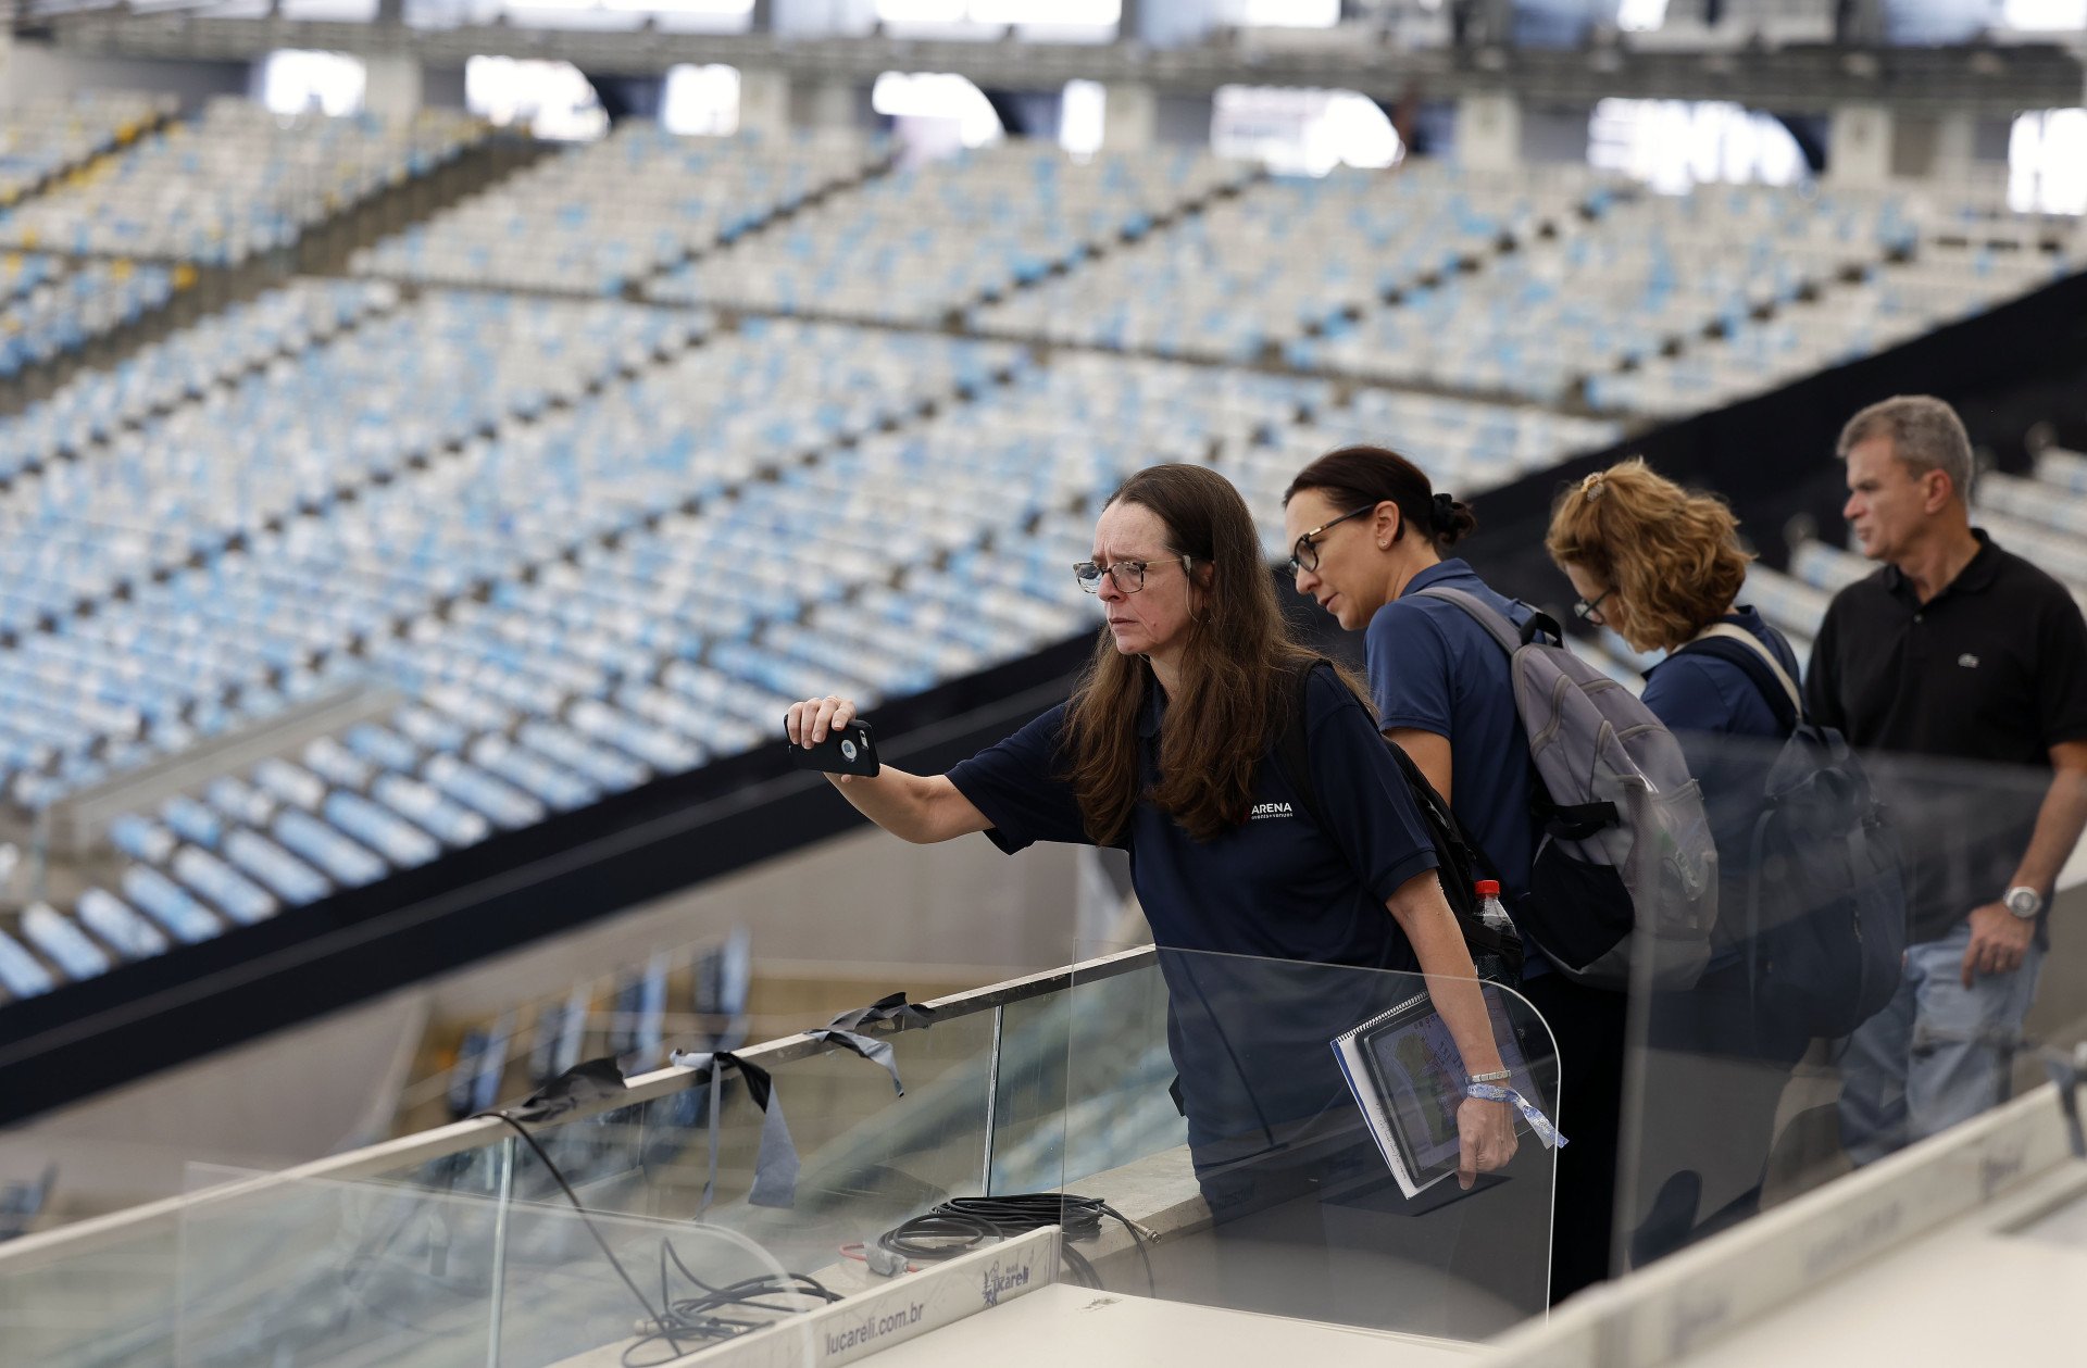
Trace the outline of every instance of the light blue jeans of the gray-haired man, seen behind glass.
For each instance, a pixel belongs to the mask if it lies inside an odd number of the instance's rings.
[[[1964,986],[1970,922],[1905,949],[1891,1003],[1855,1028],[1841,1057],[1841,1145],[1855,1164],[1947,1130],[2008,1099],[2022,1018],[2037,995],[2043,949],[2012,974]]]

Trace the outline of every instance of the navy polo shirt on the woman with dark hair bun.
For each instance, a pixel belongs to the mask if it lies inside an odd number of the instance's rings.
[[[1513,911],[1530,890],[1536,859],[1530,734],[1515,711],[1507,651],[1455,603],[1419,594],[1430,586],[1476,594],[1517,628],[1534,609],[1492,592],[1463,559],[1450,559],[1413,576],[1363,634],[1377,724],[1386,732],[1413,728],[1448,738],[1450,811],[1501,874],[1501,895]],[[1524,978],[1549,972],[1534,945],[1524,940],[1521,949]]]

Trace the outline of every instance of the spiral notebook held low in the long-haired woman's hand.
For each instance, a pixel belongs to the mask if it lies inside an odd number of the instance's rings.
[[[1528,1061],[1515,1043],[1501,995],[1486,988],[1486,1011],[1509,1084],[1524,1097],[1540,1097]],[[1354,1093],[1369,1134],[1377,1141],[1398,1189],[1407,1197],[1457,1172],[1457,1107],[1471,1082],[1448,1022],[1428,993],[1415,993],[1332,1041],[1340,1072]],[[1517,1130],[1528,1126],[1517,1122]]]

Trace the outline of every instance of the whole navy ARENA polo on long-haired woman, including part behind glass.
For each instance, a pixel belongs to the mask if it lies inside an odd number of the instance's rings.
[[[1140,736],[1150,786],[1167,705],[1158,686],[1148,688]],[[1054,707],[950,770],[1004,851],[1035,840],[1092,845],[1064,778],[1064,711]],[[1332,671],[1311,674],[1304,724],[1323,830],[1271,742],[1240,826],[1196,840],[1137,803],[1119,838],[1160,947],[1167,1045],[1200,1176],[1281,1153],[1300,1130],[1357,1124],[1329,1043],[1419,986],[1405,974],[1325,968],[1419,968],[1386,901],[1434,870],[1436,853],[1369,711]]]

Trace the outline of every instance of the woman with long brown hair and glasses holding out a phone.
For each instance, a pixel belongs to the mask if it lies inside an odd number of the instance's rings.
[[[1334,671],[1306,671],[1313,657],[1288,636],[1238,490],[1192,465],[1131,475],[1104,505],[1094,559],[1075,576],[1106,626],[1071,701],[950,774],[831,776],[841,795],[914,842],[985,832],[1004,851],[1035,840],[1127,849],[1162,968],[1167,951],[1208,951],[1175,961],[1421,970],[1467,1072],[1496,1074],[1494,1030],[1428,828],[1361,699]],[[1275,757],[1298,713],[1300,671],[1317,801],[1292,790]],[[854,715],[847,699],[810,699],[789,709],[787,732],[793,744],[816,744]],[[1265,982],[1300,982],[1281,963]],[[1286,1118],[1309,1128],[1315,1118],[1300,1112],[1319,1105],[1329,1116],[1344,1091],[1329,1036],[1309,1039],[1317,1022],[1292,1030],[1290,1055],[1258,1051],[1275,1066],[1240,1064],[1256,1051],[1227,1051],[1227,1064],[1206,1043],[1206,1030],[1227,1026],[1223,1013],[1183,1030],[1181,984],[1169,984],[1190,1147],[1219,1207],[1231,1197],[1225,1174],[1256,1151],[1242,1134],[1252,1128],[1242,1126],[1246,1112],[1267,1122],[1265,1103],[1281,1095]],[[1271,1020],[1279,1016],[1263,1011],[1244,1030],[1281,1030]],[[1227,1068],[1254,1074],[1248,1091],[1263,1091],[1242,1097],[1236,1082],[1215,1082]],[[1294,1134],[1269,1130],[1258,1153],[1300,1151]],[[1463,1099],[1457,1132],[1465,1187],[1515,1151],[1513,1112],[1501,1101]]]

